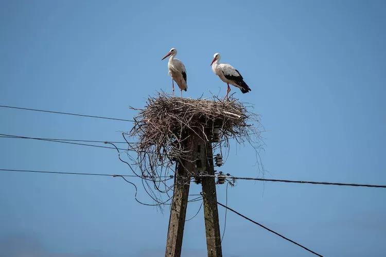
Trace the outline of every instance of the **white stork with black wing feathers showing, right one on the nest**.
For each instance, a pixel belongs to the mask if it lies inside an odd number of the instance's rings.
[[[231,91],[229,84],[240,88],[243,94],[248,93],[248,91],[251,91],[251,88],[249,88],[247,83],[244,82],[240,72],[237,69],[232,67],[230,64],[219,63],[221,58],[220,53],[215,53],[213,57],[214,58],[212,63],[210,63],[210,66],[212,66],[213,64],[212,70],[214,74],[219,76],[219,78],[228,85],[228,88],[226,90],[226,96],[224,97],[224,99],[228,97],[228,94]]]

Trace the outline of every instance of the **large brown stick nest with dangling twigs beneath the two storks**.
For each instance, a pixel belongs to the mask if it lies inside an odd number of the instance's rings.
[[[216,101],[217,99],[217,101]],[[229,141],[250,143],[258,155],[261,145],[259,116],[250,113],[238,99],[219,101],[216,96],[209,99],[190,99],[172,97],[159,93],[149,97],[145,108],[134,108],[138,115],[134,126],[128,133],[136,138],[134,151],[137,157],[131,158],[141,170],[142,176],[156,178],[174,175],[173,164],[177,159],[188,159],[182,141],[187,132],[194,131],[205,140],[214,141],[213,150],[229,152]],[[255,124],[251,124],[251,123]],[[254,126],[254,125],[258,126]],[[207,131],[219,131],[219,136],[208,138]],[[211,134],[211,133],[209,133]],[[215,136],[216,137],[216,136]],[[149,187],[150,188],[150,187]],[[155,187],[160,192],[159,187]]]

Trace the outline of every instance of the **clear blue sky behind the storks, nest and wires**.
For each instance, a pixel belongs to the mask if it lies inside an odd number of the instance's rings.
[[[2,1],[0,104],[131,119],[129,105],[171,92],[161,58],[172,47],[187,69],[184,97],[225,94],[209,67],[220,52],[252,89],[231,92],[270,130],[265,177],[384,185],[385,26],[381,0]],[[121,141],[131,128],[5,108],[0,120],[1,134],[46,138]],[[262,176],[254,165],[252,149],[233,143],[221,170]],[[0,169],[130,174],[115,150],[4,138]],[[1,172],[0,256],[163,256],[169,212],[133,194],[119,178]],[[151,203],[142,188],[138,198]],[[386,252],[385,189],[239,181],[228,204],[325,256]],[[311,256],[231,212],[222,247],[227,257]],[[186,223],[183,256],[206,256],[202,211]]]

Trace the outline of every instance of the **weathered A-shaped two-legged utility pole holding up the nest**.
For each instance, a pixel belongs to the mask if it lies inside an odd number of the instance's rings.
[[[200,136],[198,136],[200,135]],[[214,175],[212,142],[206,141],[202,131],[191,131],[186,138],[185,150],[190,151],[190,161],[178,163],[174,181],[173,201],[169,219],[165,257],[180,257],[185,226],[190,177],[200,172]],[[217,210],[216,183],[214,177],[203,177],[202,195],[208,256],[221,257],[220,226]]]

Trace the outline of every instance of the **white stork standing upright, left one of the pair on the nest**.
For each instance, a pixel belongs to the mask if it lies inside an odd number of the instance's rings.
[[[168,70],[169,75],[171,77],[171,84],[173,87],[173,96],[174,96],[174,82],[176,81],[178,87],[180,87],[181,90],[181,97],[182,97],[182,90],[185,90],[188,88],[188,85],[186,84],[186,69],[185,65],[178,59],[174,59],[177,55],[177,49],[171,48],[170,51],[164,56],[164,58],[161,59],[164,60],[166,57],[170,56],[169,62],[168,62]]]

